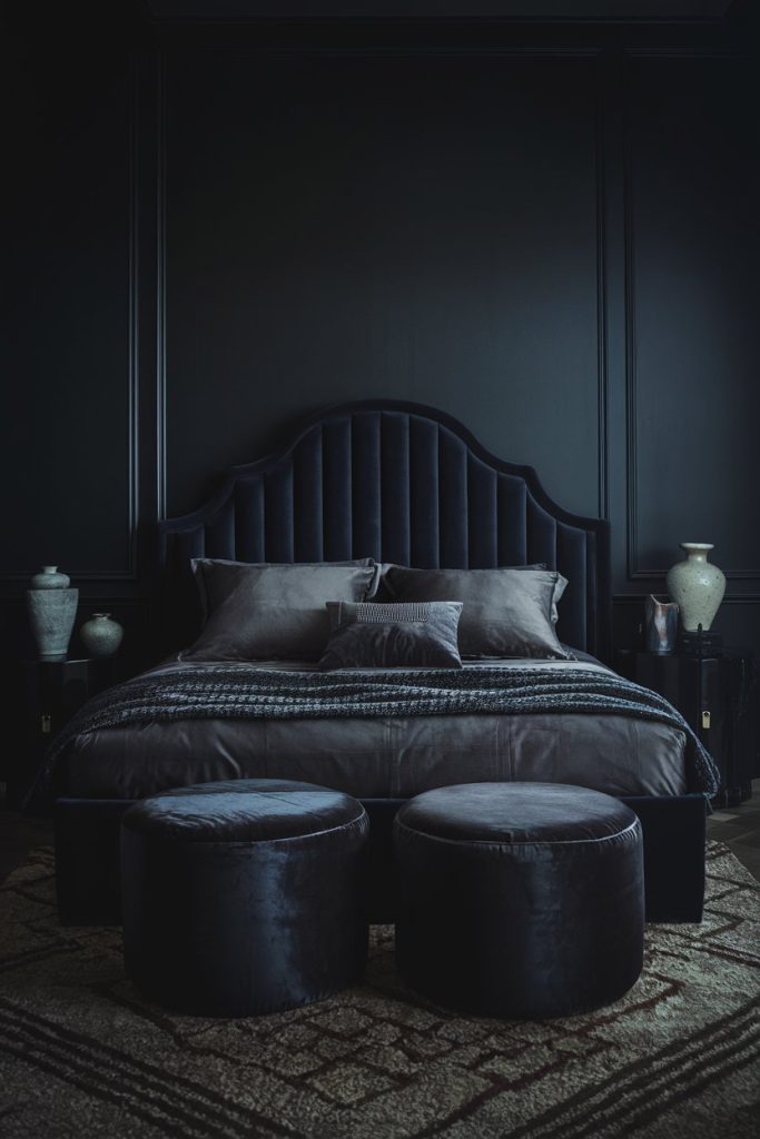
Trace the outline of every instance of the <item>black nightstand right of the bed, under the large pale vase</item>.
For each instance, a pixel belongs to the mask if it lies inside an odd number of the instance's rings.
[[[653,688],[678,708],[720,768],[719,806],[750,798],[757,746],[757,665],[751,652],[722,656],[657,656],[622,649],[615,667],[628,680]]]

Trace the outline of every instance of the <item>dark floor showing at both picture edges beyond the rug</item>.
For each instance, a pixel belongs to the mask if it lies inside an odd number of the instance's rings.
[[[5,796],[5,787],[0,784]],[[741,806],[716,811],[708,821],[708,834],[729,846],[739,862],[760,880],[760,779],[752,784],[752,798]],[[52,844],[52,823],[27,819],[17,811],[2,809],[0,802],[0,882],[19,866],[35,846]]]

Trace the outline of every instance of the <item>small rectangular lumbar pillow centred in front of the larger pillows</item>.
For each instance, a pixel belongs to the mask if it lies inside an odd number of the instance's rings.
[[[327,603],[333,632],[320,669],[460,669],[459,601]]]

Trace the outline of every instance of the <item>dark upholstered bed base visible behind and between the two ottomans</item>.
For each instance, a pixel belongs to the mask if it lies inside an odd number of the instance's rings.
[[[404,800],[362,800],[370,819],[368,908],[394,920],[392,823]],[[644,831],[647,921],[700,921],[706,806],[702,795],[623,798]],[[120,925],[119,829],[129,800],[60,798],[56,804],[56,888],[63,925]]]

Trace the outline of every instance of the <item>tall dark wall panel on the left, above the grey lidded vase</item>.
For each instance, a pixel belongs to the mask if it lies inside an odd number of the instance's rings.
[[[44,42],[44,41],[43,41]],[[49,52],[49,54],[48,54]],[[125,51],[13,58],[2,574],[131,576],[131,80]]]

